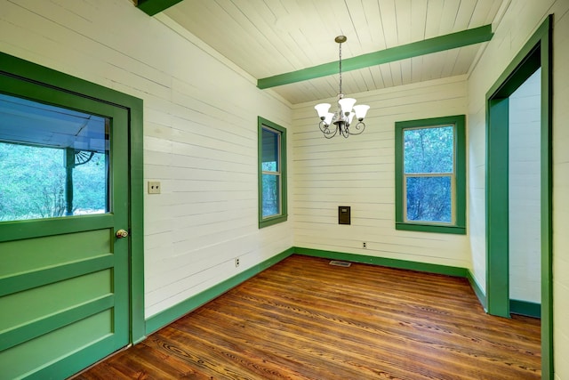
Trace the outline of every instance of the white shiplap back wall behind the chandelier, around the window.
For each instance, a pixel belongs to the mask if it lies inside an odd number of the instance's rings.
[[[371,106],[348,139],[325,139],[313,103],[293,111],[295,247],[469,268],[468,236],[395,230],[395,122],[466,114],[465,77],[347,95]],[[351,206],[351,225],[338,206]]]

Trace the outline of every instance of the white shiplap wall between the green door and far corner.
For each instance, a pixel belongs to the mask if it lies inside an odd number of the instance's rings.
[[[128,1],[0,0],[0,51],[144,101],[146,317],[292,247],[257,224],[257,116],[289,106]],[[240,257],[236,268],[234,258]]]

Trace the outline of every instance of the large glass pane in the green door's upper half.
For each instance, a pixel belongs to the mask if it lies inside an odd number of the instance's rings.
[[[0,94],[0,221],[108,212],[108,128]]]

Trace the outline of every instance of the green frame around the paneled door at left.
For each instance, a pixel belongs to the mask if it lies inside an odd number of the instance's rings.
[[[130,342],[146,337],[144,320],[144,234],[142,174],[142,100],[20,58],[0,53],[0,72],[126,109],[129,118]]]

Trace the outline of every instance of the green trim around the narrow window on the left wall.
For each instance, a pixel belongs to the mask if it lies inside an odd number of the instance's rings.
[[[263,200],[262,200],[262,152],[263,140],[262,132],[264,128],[271,129],[280,133],[279,135],[279,163],[280,168],[280,214],[263,217]],[[287,214],[287,186],[286,186],[286,128],[277,125],[266,118],[257,117],[257,135],[258,135],[258,198],[259,198],[259,228],[268,227],[270,225],[285,222],[288,218]]]

